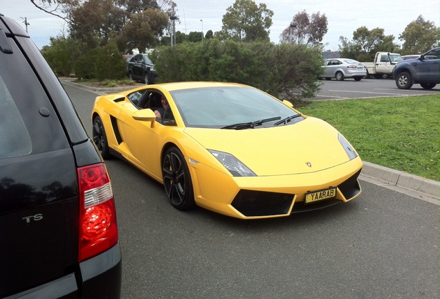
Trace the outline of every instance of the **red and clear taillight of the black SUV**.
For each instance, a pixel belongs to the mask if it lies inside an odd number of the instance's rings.
[[[118,243],[116,208],[109,174],[103,163],[78,168],[80,185],[80,248],[78,261]]]

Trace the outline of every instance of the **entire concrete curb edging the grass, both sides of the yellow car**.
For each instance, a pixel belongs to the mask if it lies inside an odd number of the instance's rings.
[[[70,84],[75,87],[86,89],[88,91],[94,91],[98,93],[117,93],[120,91],[125,91],[127,89],[132,89],[134,87],[88,87],[76,82],[71,82],[71,80],[61,78],[65,84]],[[414,192],[419,192],[425,194],[428,197],[440,200],[440,182],[431,179],[425,179],[421,176],[415,176],[414,174],[409,174],[400,170],[393,170],[392,168],[384,167],[381,165],[376,165],[363,161],[363,169],[360,173],[361,176],[367,176],[372,179],[381,181],[386,185],[392,185],[399,188],[405,188],[407,190],[412,190]]]

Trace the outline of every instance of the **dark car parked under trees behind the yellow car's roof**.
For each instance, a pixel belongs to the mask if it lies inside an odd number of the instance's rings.
[[[131,57],[128,65],[128,76],[131,80],[153,84],[157,73],[148,54],[137,54]]]

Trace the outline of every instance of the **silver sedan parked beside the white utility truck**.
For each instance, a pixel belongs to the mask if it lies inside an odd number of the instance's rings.
[[[336,78],[336,80],[342,81],[345,78],[353,78],[356,81],[360,81],[367,75],[365,64],[348,58],[331,58],[324,60],[323,69],[320,78],[325,78],[326,80]]]

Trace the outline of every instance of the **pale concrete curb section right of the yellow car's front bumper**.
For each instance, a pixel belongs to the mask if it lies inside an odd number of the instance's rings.
[[[363,161],[361,174],[369,176],[388,185],[423,193],[434,199],[440,199],[440,182],[415,176],[400,170],[393,170],[381,165]]]

